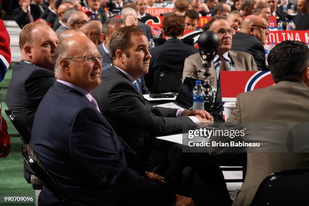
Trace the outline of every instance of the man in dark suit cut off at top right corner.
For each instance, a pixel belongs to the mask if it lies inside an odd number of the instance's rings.
[[[298,14],[293,18],[295,23],[295,30],[308,30],[309,29],[309,1],[297,1]]]

